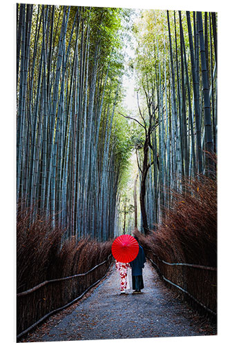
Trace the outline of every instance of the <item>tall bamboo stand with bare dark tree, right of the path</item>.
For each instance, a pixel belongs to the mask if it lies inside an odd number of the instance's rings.
[[[184,179],[215,179],[217,17],[146,10],[133,30],[142,128],[135,149],[147,234],[173,207],[171,192],[182,190]]]

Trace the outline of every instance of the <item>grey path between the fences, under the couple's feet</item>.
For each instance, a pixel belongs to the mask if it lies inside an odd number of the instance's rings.
[[[215,325],[195,313],[166,288],[149,262],[143,270],[144,289],[119,294],[115,266],[77,304],[48,319],[20,342],[125,339],[216,335]],[[128,280],[131,286],[131,272]]]

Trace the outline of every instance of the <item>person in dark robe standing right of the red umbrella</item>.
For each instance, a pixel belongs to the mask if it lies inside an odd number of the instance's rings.
[[[138,238],[135,236],[134,238],[138,242]],[[137,257],[132,262],[130,262],[130,266],[132,268],[133,290],[135,290],[133,293],[141,293],[142,288],[144,288],[142,268],[144,268],[145,262],[146,262],[146,258],[144,255],[144,250],[142,246],[140,246],[139,244],[139,252],[137,254]]]

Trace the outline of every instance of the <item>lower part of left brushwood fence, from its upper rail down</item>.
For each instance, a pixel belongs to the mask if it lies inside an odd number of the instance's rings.
[[[113,263],[112,255],[86,273],[52,279],[17,294],[17,339],[50,315],[77,302],[104,279]]]

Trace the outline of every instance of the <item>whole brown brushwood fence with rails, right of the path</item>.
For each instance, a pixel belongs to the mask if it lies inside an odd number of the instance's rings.
[[[133,232],[164,282],[199,313],[217,317],[217,185],[214,178],[185,180],[161,224]]]

